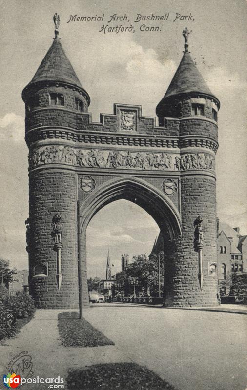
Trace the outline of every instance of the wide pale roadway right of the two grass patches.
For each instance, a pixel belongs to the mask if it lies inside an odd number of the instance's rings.
[[[84,316],[178,390],[247,388],[246,315],[102,304]]]

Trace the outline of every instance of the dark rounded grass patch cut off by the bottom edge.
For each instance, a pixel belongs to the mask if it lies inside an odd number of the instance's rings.
[[[96,364],[86,370],[69,370],[71,390],[175,390],[153,371],[134,363]]]

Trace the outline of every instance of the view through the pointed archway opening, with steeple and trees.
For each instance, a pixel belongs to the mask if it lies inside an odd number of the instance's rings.
[[[158,279],[163,296],[164,267],[161,264],[159,278],[154,255],[154,279],[150,274],[147,278],[151,281],[150,286],[145,284],[145,272],[148,267],[150,273],[152,271],[149,255],[159,234],[155,220],[143,208],[128,200],[115,200],[98,211],[86,230],[87,281],[91,302],[97,298],[94,291],[99,293],[98,302],[123,296],[158,296]],[[138,264],[143,268],[139,270]]]

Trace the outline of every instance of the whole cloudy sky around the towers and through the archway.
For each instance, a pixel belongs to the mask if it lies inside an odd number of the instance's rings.
[[[53,15],[60,15],[60,38],[82,86],[91,97],[89,112],[113,113],[113,103],[155,108],[183,55],[185,27],[192,30],[189,51],[214,95],[221,101],[216,157],[217,214],[247,234],[246,13],[244,0],[1,0],[0,36],[0,257],[27,268],[28,149],[24,142],[21,91],[52,44]],[[134,22],[142,16],[168,20]],[[69,22],[70,15],[102,16],[104,21]],[[135,32],[100,32],[114,14]],[[175,19],[176,14],[181,18]],[[184,20],[190,15],[191,20]],[[188,19],[188,18],[186,18]],[[141,31],[141,24],[159,31]],[[123,211],[124,210],[124,211]],[[104,230],[102,229],[104,221]],[[114,221],[114,223],[113,223]],[[150,252],[158,227],[142,209],[126,201],[106,206],[87,231],[89,273],[103,277],[109,246],[114,272],[121,254]],[[95,242],[94,237],[99,239]]]

